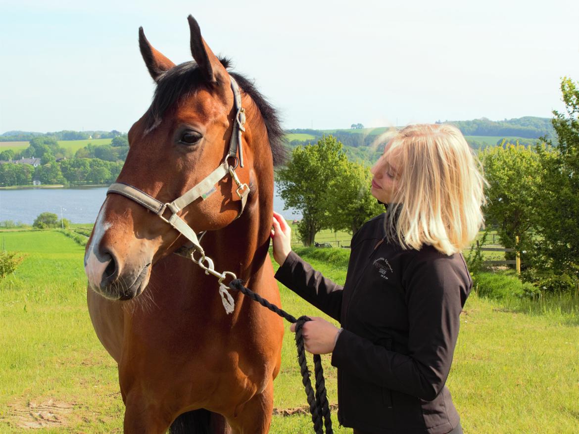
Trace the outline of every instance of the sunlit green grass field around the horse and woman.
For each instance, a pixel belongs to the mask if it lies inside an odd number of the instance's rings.
[[[97,340],[86,308],[84,249],[57,231],[0,231],[0,245],[27,255],[0,282],[0,432],[34,426],[44,433],[122,432],[115,363]],[[345,249],[333,250],[347,258]],[[340,261],[305,257],[325,276],[345,280]],[[293,315],[324,316],[284,286],[280,292]],[[447,382],[465,433],[577,432],[577,310],[569,314],[555,303],[525,312],[520,304],[506,306],[475,293],[467,300]],[[309,417],[300,414],[306,400],[289,332],[282,358],[274,406],[298,411],[274,415],[271,432],[311,432]],[[335,404],[336,372],[328,356],[323,363]],[[336,433],[351,433],[338,428],[335,411],[333,421]]]

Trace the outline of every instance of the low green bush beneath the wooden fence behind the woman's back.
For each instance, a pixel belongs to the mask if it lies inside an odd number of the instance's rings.
[[[512,271],[475,274],[472,285],[477,295],[496,300],[513,296],[520,299],[533,299],[541,295],[541,290],[537,286],[529,282],[521,282]]]

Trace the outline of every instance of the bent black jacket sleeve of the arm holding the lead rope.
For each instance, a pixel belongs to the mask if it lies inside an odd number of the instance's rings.
[[[472,282],[449,256],[417,261],[402,277],[408,307],[408,354],[340,333],[332,365],[365,381],[431,401],[442,391],[459,334],[460,311]]]

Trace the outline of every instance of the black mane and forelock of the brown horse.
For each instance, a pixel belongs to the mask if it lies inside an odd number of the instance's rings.
[[[226,69],[230,67],[228,58],[222,57],[219,58],[219,61]],[[285,160],[284,130],[281,128],[277,110],[255,89],[253,82],[240,73],[231,71],[228,71],[228,73],[239,84],[241,92],[251,97],[263,117],[267,137],[269,138],[269,146],[272,149],[273,164],[283,163]],[[195,62],[185,62],[165,72],[157,80],[157,89],[155,89],[153,101],[146,113],[147,130],[155,128],[163,119],[164,113],[177,103],[181,97],[200,86],[208,86],[208,84],[205,84],[203,78],[201,78],[201,72]]]

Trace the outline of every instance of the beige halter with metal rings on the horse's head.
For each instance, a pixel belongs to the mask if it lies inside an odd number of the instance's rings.
[[[181,233],[185,238],[187,238],[191,244],[193,245],[192,248],[189,248],[189,255],[193,259],[193,253],[199,252],[201,258],[199,261],[196,261],[203,269],[207,270],[212,269],[211,259],[206,258],[205,252],[203,251],[203,247],[201,247],[199,243],[199,238],[197,238],[197,234],[195,231],[183,220],[181,219],[177,213],[185,208],[187,205],[193,203],[193,201],[197,200],[197,198],[201,197],[205,200],[207,197],[211,196],[212,193],[215,193],[217,190],[215,188],[215,184],[217,184],[223,177],[226,175],[230,175],[233,181],[237,185],[237,189],[235,192],[237,196],[239,196],[241,201],[241,209],[239,214],[237,214],[237,218],[241,216],[243,213],[243,209],[245,208],[245,203],[247,203],[247,196],[250,193],[250,187],[246,183],[241,183],[237,174],[235,173],[235,169],[237,168],[237,164],[243,167],[243,150],[241,148],[241,131],[245,131],[245,110],[241,107],[241,93],[239,91],[239,85],[233,79],[232,76],[229,77],[231,80],[231,89],[233,90],[233,100],[234,105],[233,108],[235,109],[236,115],[233,122],[233,131],[231,133],[231,139],[229,141],[229,152],[228,155],[225,156],[223,162],[203,181],[199,182],[195,187],[190,189],[188,192],[176,198],[173,202],[170,203],[163,203],[156,198],[152,197],[151,195],[143,192],[142,190],[133,187],[124,182],[115,182],[113,183],[107,190],[107,194],[115,193],[120,194],[121,196],[127,197],[136,203],[142,205],[149,211],[154,212],[158,215],[164,222],[169,223],[171,226],[174,227],[179,233]],[[237,154],[239,153],[239,157]],[[234,165],[229,164],[229,159],[233,158],[235,163]],[[164,216],[167,209],[172,213],[168,218]],[[188,256],[189,256],[188,255]],[[203,260],[207,261],[207,265],[203,266]],[[221,282],[219,282],[221,283]]]

